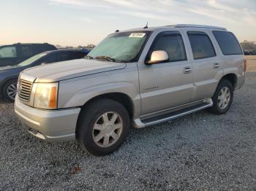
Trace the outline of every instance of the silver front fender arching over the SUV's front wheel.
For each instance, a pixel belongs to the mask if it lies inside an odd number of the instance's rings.
[[[135,110],[135,116],[140,114],[140,93],[138,88],[138,79],[123,74],[122,79],[132,79],[129,81],[117,81],[116,77],[98,77],[83,79],[78,81],[60,82],[59,85],[59,108],[70,108],[83,106],[87,101],[98,95],[106,93],[124,93],[132,100]],[[132,75],[132,74],[131,74]],[[138,75],[137,75],[138,77]],[[137,80],[136,80],[137,79]]]

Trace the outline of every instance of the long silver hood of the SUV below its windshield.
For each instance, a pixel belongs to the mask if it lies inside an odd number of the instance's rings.
[[[124,69],[125,63],[78,59],[36,66],[23,72],[37,78],[35,82],[57,82],[64,79]]]

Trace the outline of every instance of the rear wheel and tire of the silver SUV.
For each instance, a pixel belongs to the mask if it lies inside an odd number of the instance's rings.
[[[227,93],[225,93],[226,90]],[[214,96],[212,97],[213,106],[210,109],[208,109],[208,111],[214,114],[225,114],[230,109],[230,106],[233,102],[233,93],[234,87],[232,83],[227,79],[222,79],[219,82],[219,85],[214,93]],[[230,95],[229,98],[228,95]]]

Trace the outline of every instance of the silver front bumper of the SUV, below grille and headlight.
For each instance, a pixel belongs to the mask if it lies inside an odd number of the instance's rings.
[[[15,98],[15,113],[29,133],[46,141],[75,139],[75,128],[80,108],[61,110],[34,109]]]

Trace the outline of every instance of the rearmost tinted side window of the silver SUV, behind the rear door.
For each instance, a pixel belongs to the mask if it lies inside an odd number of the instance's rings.
[[[243,51],[239,46],[236,37],[226,31],[212,31],[217,40],[223,55],[242,55]]]

